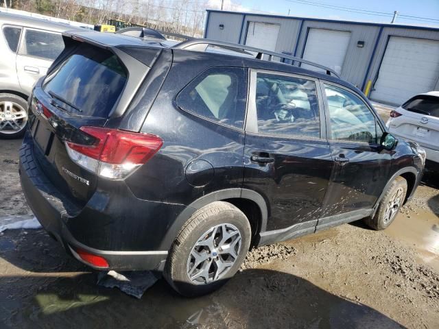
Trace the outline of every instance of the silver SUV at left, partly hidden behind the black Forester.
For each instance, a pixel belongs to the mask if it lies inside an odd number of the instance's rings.
[[[0,12],[0,138],[19,138],[27,125],[27,97],[61,51],[72,27]]]

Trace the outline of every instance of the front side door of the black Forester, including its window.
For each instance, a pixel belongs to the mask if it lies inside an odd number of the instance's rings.
[[[375,206],[388,182],[393,151],[381,147],[383,128],[366,101],[329,82],[322,84],[322,89],[334,160],[322,217],[329,217],[329,221],[361,217]],[[341,214],[343,218],[337,219]],[[329,225],[329,221],[322,219],[319,227]]]

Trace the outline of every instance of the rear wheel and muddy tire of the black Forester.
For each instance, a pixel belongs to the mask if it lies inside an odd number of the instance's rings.
[[[211,293],[241,267],[250,240],[246,215],[228,202],[213,202],[197,210],[178,234],[164,277],[181,295]]]

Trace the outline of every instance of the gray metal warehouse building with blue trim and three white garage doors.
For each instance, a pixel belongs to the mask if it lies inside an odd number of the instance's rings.
[[[383,103],[439,90],[439,28],[207,10],[204,37],[329,66]]]

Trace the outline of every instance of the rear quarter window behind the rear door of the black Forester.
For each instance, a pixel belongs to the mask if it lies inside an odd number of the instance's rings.
[[[177,96],[177,106],[224,125],[243,128],[247,78],[244,69],[215,67],[204,71]]]

